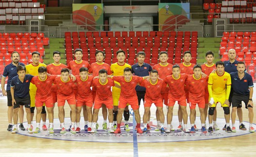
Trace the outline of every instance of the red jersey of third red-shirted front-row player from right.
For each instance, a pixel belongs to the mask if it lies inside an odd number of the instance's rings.
[[[146,88],[145,98],[156,100],[161,98],[161,89],[166,87],[166,84],[163,80],[157,80],[156,84],[152,84],[151,81],[143,80],[139,86]]]

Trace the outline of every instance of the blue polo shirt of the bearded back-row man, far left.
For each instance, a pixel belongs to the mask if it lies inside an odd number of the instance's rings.
[[[19,62],[19,65],[25,66],[23,63],[20,63],[20,62]],[[8,76],[6,91],[11,90],[10,84],[11,84],[12,78],[13,78],[14,76],[17,76],[17,75],[18,75],[18,74],[17,74],[17,67],[16,67],[15,65],[13,65],[13,63],[8,64],[8,65],[4,68],[3,73],[2,73],[2,76],[3,76],[3,77],[7,77],[7,76]]]

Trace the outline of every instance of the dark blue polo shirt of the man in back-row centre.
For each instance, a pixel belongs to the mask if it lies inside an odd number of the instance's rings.
[[[136,76],[149,76],[149,72],[152,70],[152,67],[147,64],[147,63],[143,63],[143,65],[140,67],[138,65],[138,63],[134,64],[132,66],[132,73],[134,73]],[[141,87],[141,86],[136,86],[135,87],[136,91],[146,91],[145,87]]]

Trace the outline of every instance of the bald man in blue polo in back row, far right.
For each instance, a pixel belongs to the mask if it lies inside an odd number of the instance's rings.
[[[229,60],[224,61],[225,71],[228,73],[236,72],[236,66],[238,61],[236,60],[236,50],[230,49],[228,51],[228,58]],[[229,95],[229,103],[232,103],[232,96],[233,96],[233,89],[231,87],[230,95]],[[242,104],[238,105],[237,107],[237,116],[240,122],[239,129],[246,130],[245,125],[243,124],[243,112],[242,112]],[[226,130],[226,125],[222,128],[222,130]]]

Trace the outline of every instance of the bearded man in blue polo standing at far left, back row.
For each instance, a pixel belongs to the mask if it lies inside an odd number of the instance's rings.
[[[10,84],[11,84],[11,80],[14,76],[17,76],[17,66],[18,65],[22,65],[25,66],[23,63],[20,63],[20,54],[16,51],[12,52],[11,54],[11,59],[12,59],[12,63],[10,63],[9,65],[7,65],[4,70],[3,70],[3,74],[2,74],[2,79],[1,79],[1,88],[2,88],[2,94],[4,96],[7,96],[7,106],[8,106],[8,110],[7,110],[7,117],[8,117],[8,128],[7,131],[12,131],[12,119],[13,119],[13,106],[12,106],[12,96],[11,96],[11,88],[10,88]],[[8,77],[8,81],[7,81],[7,86],[6,86],[6,90],[4,89],[4,85],[5,85],[5,80],[6,77]],[[19,118],[20,118],[20,129],[21,130],[25,130],[24,126],[23,126],[23,117],[24,117],[24,111],[23,111],[23,107],[20,107],[19,109]]]

